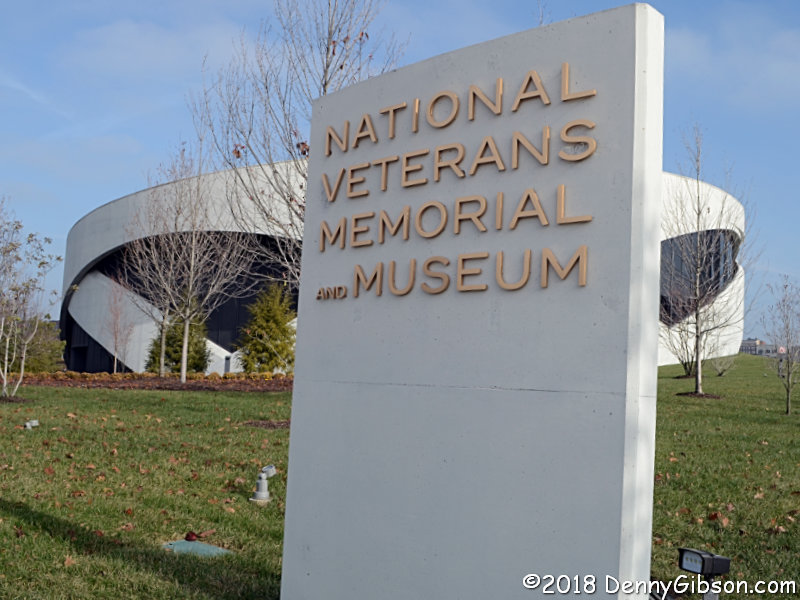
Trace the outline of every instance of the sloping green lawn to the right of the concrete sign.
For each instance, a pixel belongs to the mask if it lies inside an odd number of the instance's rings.
[[[694,389],[680,372],[659,373],[653,575],[673,579],[677,548],[690,546],[730,557],[732,579],[794,580],[800,593],[800,414],[784,414],[763,358],[707,370],[718,400],[676,396]]]

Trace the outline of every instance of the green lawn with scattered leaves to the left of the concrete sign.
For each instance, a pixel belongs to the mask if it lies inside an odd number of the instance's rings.
[[[244,423],[288,419],[288,393],[20,395],[33,402],[0,404],[0,597],[278,597],[288,430]],[[269,463],[276,498],[259,508]],[[234,553],[161,548],[209,530]]]

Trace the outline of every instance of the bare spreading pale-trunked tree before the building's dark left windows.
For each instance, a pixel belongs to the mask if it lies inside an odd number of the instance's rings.
[[[131,224],[133,241],[124,255],[126,286],[141,295],[140,306],[161,326],[162,375],[166,328],[183,324],[182,382],[190,324],[255,285],[252,236],[231,230],[227,205],[215,200],[212,178],[201,175],[201,150],[183,147],[160,169],[164,184],[151,190]]]

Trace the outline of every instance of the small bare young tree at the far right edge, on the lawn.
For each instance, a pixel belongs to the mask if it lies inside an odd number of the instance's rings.
[[[767,286],[773,304],[767,307],[761,323],[767,339],[775,345],[777,356],[768,358],[786,392],[786,414],[792,412],[792,390],[800,377],[800,287],[787,276],[780,285]]]

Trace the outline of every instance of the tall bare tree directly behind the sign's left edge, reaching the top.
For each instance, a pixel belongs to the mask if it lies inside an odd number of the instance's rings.
[[[259,223],[274,243],[261,260],[296,289],[306,206],[311,102],[383,72],[400,47],[372,31],[379,0],[275,0],[275,27],[251,50],[242,38],[231,64],[194,99],[215,166],[230,174],[236,220]]]

